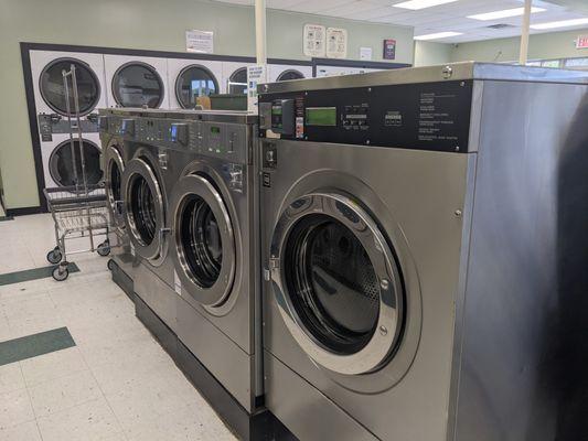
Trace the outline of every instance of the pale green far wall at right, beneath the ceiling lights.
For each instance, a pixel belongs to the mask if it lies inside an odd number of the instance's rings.
[[[582,34],[588,34],[588,30],[531,35],[528,58],[548,60],[588,56],[588,50],[576,49],[575,40]],[[520,37],[461,43],[451,51],[451,61],[514,62],[518,60],[520,46]]]

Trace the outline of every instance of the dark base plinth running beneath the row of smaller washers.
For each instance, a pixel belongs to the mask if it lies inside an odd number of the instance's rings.
[[[141,323],[239,439],[296,441],[288,429],[267,409],[249,415],[139,295],[135,295],[135,309]]]

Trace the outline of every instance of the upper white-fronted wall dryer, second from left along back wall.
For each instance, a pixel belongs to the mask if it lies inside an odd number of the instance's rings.
[[[167,58],[107,54],[104,68],[108,106],[169,108]]]

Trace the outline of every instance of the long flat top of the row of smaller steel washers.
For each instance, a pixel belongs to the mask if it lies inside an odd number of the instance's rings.
[[[148,117],[161,119],[188,119],[197,121],[217,121],[234,123],[257,123],[257,114],[239,110],[190,110],[190,109],[143,109],[108,108],[100,109],[100,115],[119,115],[128,117]]]

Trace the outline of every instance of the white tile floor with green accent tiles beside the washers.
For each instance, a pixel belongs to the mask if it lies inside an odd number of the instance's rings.
[[[0,223],[0,273],[46,266],[50,215]],[[0,287],[0,342],[67,326],[76,346],[0,366],[2,441],[235,440],[110,280],[81,272]]]

